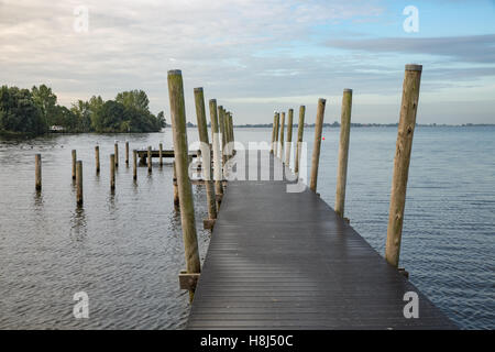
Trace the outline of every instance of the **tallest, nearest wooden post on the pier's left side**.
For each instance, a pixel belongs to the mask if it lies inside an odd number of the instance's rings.
[[[187,272],[180,274],[179,279],[189,278],[191,285],[189,299],[193,300],[196,282],[193,277],[198,277],[200,273],[200,261],[198,252],[198,239],[196,234],[195,206],[193,200],[193,189],[189,179],[187,132],[186,132],[186,109],[184,102],[183,74],[180,70],[168,72],[168,97],[170,100],[170,120],[174,136],[174,155],[177,172],[177,187],[180,199],[180,222],[183,227],[184,248],[186,254]],[[184,286],[182,286],[185,288]]]

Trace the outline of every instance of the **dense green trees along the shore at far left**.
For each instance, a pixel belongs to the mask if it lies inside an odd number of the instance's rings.
[[[164,112],[154,116],[143,90],[119,92],[113,100],[92,96],[78,100],[70,109],[57,105],[52,88],[0,88],[0,132],[43,134],[50,131],[79,132],[158,132],[165,127]]]

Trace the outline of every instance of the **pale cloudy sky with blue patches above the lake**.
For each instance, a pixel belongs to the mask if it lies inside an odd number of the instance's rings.
[[[353,122],[395,123],[410,63],[418,123],[495,123],[495,1],[0,0],[0,85],[46,84],[67,107],[143,89],[167,122],[182,69],[191,122],[204,87],[235,124],[300,105],[312,123],[318,98],[331,123],[344,88]]]

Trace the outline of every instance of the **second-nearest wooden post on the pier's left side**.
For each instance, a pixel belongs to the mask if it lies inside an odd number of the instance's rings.
[[[217,204],[215,198],[213,182],[211,179],[211,151],[208,140],[208,128],[206,122],[205,95],[202,88],[195,88],[196,118],[198,120],[198,134],[201,142],[202,177],[207,190],[208,220],[217,219]],[[211,221],[206,228],[210,228]],[[206,223],[205,223],[206,224]]]

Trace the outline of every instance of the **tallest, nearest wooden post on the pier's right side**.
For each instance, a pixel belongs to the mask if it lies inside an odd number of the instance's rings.
[[[413,135],[416,125],[416,112],[419,100],[421,65],[406,65],[403,84],[403,101],[397,133],[397,146],[392,178],[391,209],[388,213],[386,261],[398,267],[400,240],[403,234],[404,207],[406,206],[407,177],[409,174]]]

